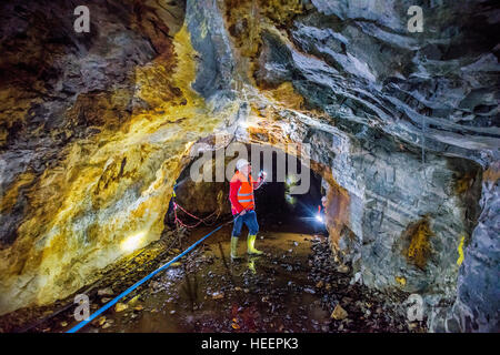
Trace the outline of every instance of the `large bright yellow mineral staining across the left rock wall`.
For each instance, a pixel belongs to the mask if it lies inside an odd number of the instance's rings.
[[[89,116],[106,122],[96,122],[102,131],[67,148],[66,159],[29,189],[33,213],[13,245],[0,251],[0,314],[63,298],[93,282],[97,270],[159,239],[187,146],[234,113],[210,114],[192,91],[196,52],[186,26],[173,45],[173,73],[161,60],[136,70],[136,94],[147,105],[126,124],[108,109],[127,93],[80,99],[96,100]],[[9,194],[30,181],[23,175]]]

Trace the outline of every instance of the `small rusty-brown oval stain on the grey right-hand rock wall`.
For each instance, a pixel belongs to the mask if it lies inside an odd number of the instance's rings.
[[[429,221],[423,219],[410,224],[404,235],[410,240],[410,245],[407,251],[408,261],[419,268],[424,270],[431,253],[429,239],[433,235],[429,226]]]

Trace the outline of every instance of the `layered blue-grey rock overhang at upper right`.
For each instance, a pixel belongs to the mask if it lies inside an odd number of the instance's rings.
[[[313,4],[317,10],[298,17],[287,38],[263,28],[261,81],[292,81],[310,104],[350,131],[364,124],[417,146],[471,158],[473,151],[498,149],[498,93],[491,90],[498,61],[484,52],[497,43],[471,31],[487,4],[437,3],[426,9],[427,31],[417,36],[406,28],[411,1]],[[451,20],[474,11],[477,17],[460,21],[462,28]],[[492,28],[493,21],[494,13],[487,17]],[[474,44],[461,53],[469,43]]]

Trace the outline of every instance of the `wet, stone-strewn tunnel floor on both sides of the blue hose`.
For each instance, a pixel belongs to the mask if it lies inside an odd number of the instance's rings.
[[[207,230],[186,236],[183,246]],[[267,231],[258,242],[263,256],[231,262],[227,233],[222,229],[81,332],[427,331],[423,322],[406,321],[408,295],[352,284],[349,267],[333,262],[321,234]],[[88,293],[91,312],[179,253],[169,245],[164,240],[154,243],[104,272],[101,284]],[[62,304],[14,312],[3,316],[0,326],[4,332],[64,332],[77,322],[74,305],[58,313]],[[46,322],[29,328],[43,317]]]

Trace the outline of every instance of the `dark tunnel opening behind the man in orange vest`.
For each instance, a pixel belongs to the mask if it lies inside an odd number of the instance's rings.
[[[252,150],[252,145],[254,148],[256,144],[246,144],[248,160],[252,163],[252,176],[257,180],[261,171],[268,174],[267,181],[254,190],[254,210],[261,230],[307,234],[327,233],[324,206],[321,202],[322,196],[326,195],[322,178],[298,156],[278,149]],[[259,158],[256,159],[252,154],[259,154]],[[267,154],[270,155],[266,156]],[[194,162],[190,162],[176,181],[174,199],[170,200],[166,224],[170,229],[176,227],[174,202],[192,214],[191,216],[178,209],[178,219],[183,219],[182,223],[188,226],[197,225],[193,216],[209,219],[211,224],[231,219],[229,174],[236,170],[229,172],[228,164],[237,159],[226,158],[223,168],[228,179],[223,182],[216,181],[214,171],[211,181],[194,182],[191,176]],[[253,164],[254,161],[258,162],[257,165]],[[213,160],[211,164],[214,166],[217,163]],[[284,174],[280,174],[281,168],[284,168]],[[297,193],[297,189],[293,187],[301,183],[302,187],[307,184],[307,189],[300,189]]]

